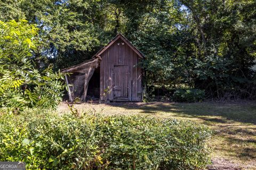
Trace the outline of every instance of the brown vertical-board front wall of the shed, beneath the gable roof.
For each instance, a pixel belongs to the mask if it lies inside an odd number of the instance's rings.
[[[100,56],[100,99],[141,101],[142,71],[137,66],[140,57],[134,49],[119,38]]]

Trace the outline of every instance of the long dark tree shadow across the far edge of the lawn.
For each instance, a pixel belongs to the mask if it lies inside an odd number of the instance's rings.
[[[139,109],[140,113],[174,113],[179,116],[203,118],[213,123],[226,123],[232,120],[241,123],[256,124],[256,105],[250,104],[218,104],[218,103],[110,103],[108,105],[125,109]],[[172,115],[173,116],[173,115]],[[220,116],[211,118],[205,116]],[[204,118],[205,117],[205,118]]]

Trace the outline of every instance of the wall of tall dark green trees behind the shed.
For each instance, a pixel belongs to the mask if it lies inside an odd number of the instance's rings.
[[[254,0],[9,0],[0,20],[39,28],[31,59],[55,70],[91,58],[118,32],[145,55],[148,87],[198,88],[217,99],[255,99]]]

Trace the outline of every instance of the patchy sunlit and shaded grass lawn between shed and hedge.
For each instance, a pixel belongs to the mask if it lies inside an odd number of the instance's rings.
[[[216,164],[227,160],[230,167],[256,169],[256,103],[82,103],[74,106],[79,112],[139,114],[203,123],[214,130],[210,146]],[[61,113],[68,110],[65,103],[58,108]]]

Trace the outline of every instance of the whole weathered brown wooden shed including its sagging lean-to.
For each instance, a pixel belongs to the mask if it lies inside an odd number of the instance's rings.
[[[143,54],[122,34],[113,38],[91,60],[62,69],[69,100],[86,97],[103,101],[141,101]]]

